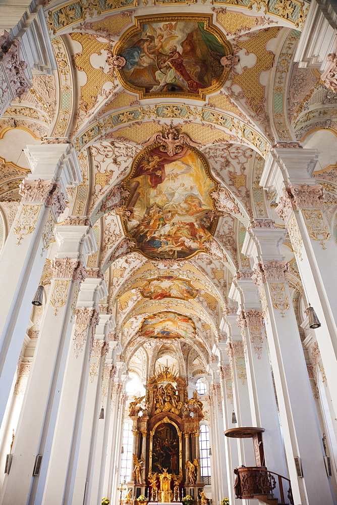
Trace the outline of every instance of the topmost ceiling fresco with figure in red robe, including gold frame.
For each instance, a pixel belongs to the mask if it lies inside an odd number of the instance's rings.
[[[125,59],[123,85],[140,98],[190,96],[204,99],[219,89],[229,70],[220,60],[232,48],[210,15],[142,16],[115,47]]]

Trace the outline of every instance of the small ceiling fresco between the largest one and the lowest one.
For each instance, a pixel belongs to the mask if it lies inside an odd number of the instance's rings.
[[[142,287],[140,294],[144,298],[162,300],[163,298],[190,299],[196,296],[196,291],[191,284],[174,275],[162,275],[150,279]]]

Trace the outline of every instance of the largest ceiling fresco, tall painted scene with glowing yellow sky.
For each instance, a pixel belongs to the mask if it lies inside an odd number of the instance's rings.
[[[179,147],[172,156],[160,144],[144,149],[124,180],[130,192],[124,231],[146,258],[191,258],[216,228],[210,191],[218,184],[197,149]]]

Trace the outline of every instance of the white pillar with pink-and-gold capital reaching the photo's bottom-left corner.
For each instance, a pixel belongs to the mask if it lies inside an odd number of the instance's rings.
[[[21,502],[28,497],[42,502],[67,371],[72,319],[86,277],[81,258],[92,251],[92,235],[88,225],[58,226],[55,232],[59,251],[51,262],[53,277],[13,445],[13,472],[5,478],[2,490],[4,505],[13,503],[13,495]],[[42,456],[42,462],[39,475],[33,477],[36,455]],[[19,483],[16,475],[22,476]]]

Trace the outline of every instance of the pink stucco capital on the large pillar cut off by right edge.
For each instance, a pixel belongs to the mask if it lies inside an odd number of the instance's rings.
[[[300,208],[321,208],[323,197],[324,191],[319,184],[289,184],[289,187],[283,189],[276,212],[287,222],[292,212]]]

